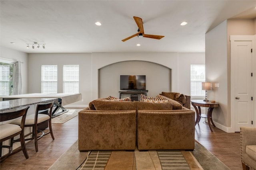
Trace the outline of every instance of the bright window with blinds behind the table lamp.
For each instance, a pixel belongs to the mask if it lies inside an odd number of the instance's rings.
[[[202,82],[205,82],[205,65],[190,65],[190,96],[204,96],[205,91],[202,90]]]

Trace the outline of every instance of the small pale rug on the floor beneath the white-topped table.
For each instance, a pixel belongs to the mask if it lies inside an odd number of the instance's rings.
[[[78,112],[82,109],[68,109],[68,112],[52,118],[52,123],[65,123],[78,115]]]

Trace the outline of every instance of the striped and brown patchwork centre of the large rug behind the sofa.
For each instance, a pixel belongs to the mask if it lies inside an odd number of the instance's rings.
[[[90,151],[77,170],[202,170],[189,151]]]

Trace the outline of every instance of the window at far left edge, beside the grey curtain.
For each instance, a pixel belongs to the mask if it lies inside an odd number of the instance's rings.
[[[13,67],[14,67],[13,63],[0,62],[0,96],[12,95]]]

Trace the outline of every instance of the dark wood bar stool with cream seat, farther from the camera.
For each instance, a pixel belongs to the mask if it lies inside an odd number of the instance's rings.
[[[41,139],[44,135],[48,135],[50,133],[52,136],[52,140],[54,140],[54,135],[52,132],[52,117],[51,117],[53,104],[54,102],[38,104],[36,106],[36,113],[32,115],[28,115],[26,117],[25,127],[32,127],[32,132],[25,135],[25,137],[28,137],[29,135],[32,135],[32,137],[25,139],[25,141],[34,139],[36,152],[38,152],[37,141]],[[40,111],[47,111],[48,114],[42,114],[40,113]],[[38,125],[42,125],[45,122],[48,122],[48,127],[50,130],[47,133],[44,133],[44,131],[38,130]],[[11,123],[19,125],[18,120],[12,121]],[[38,136],[38,131],[42,132],[40,136]]]

